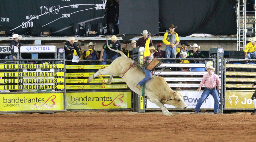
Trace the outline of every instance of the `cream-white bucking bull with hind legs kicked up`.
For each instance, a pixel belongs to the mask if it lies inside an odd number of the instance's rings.
[[[138,82],[145,78],[145,73],[141,67],[139,67],[137,64],[134,64],[131,67],[131,65],[135,62],[134,60],[126,57],[126,55],[121,51],[111,49],[109,45],[108,48],[112,51],[118,52],[121,54],[121,56],[115,59],[108,68],[100,69],[93,76],[90,76],[87,82],[89,83],[92,81],[92,79],[94,79],[94,77],[99,75],[110,75],[110,78],[106,83],[107,85],[110,85],[113,76],[119,76],[123,78],[131,90],[142,96],[142,89],[139,90],[135,87]],[[147,96],[147,99],[150,102],[155,103],[158,107],[160,107],[166,116],[175,115],[169,112],[164,104],[172,105],[182,109],[187,108],[187,105],[183,99],[183,95],[179,91],[174,92],[169,87],[164,78],[159,76],[152,76],[152,78],[146,82],[145,96]]]

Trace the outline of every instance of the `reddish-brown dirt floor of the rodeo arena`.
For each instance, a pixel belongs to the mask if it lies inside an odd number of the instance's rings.
[[[0,141],[255,141],[256,115],[162,112],[1,114]]]

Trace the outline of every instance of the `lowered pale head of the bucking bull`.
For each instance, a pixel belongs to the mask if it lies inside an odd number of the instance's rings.
[[[176,108],[182,108],[182,109],[187,108],[187,104],[183,99],[183,95],[179,91],[174,92],[173,95],[171,95],[170,98],[167,98],[166,100],[164,100],[163,103],[172,105]]]

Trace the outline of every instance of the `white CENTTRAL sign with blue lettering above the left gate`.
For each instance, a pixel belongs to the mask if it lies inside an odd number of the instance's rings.
[[[54,45],[32,45],[21,46],[20,53],[55,53],[57,51]]]

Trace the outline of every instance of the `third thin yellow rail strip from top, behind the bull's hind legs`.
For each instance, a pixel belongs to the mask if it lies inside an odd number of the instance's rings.
[[[66,79],[66,83],[87,83],[88,79]],[[0,80],[1,81],[1,80]],[[106,83],[108,78],[105,79],[94,79],[90,83]],[[122,78],[113,78],[112,82],[125,82]]]

